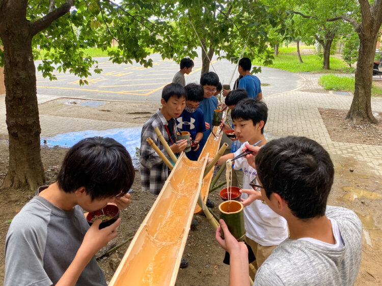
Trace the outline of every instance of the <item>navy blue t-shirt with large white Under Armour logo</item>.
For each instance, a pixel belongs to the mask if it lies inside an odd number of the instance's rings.
[[[197,133],[206,130],[203,111],[200,108],[197,108],[194,113],[183,110],[182,114],[176,119],[176,124],[179,131],[188,131],[191,134],[192,139],[195,139]],[[203,148],[200,146],[197,151],[187,152],[187,158],[193,161],[198,160],[202,149]]]

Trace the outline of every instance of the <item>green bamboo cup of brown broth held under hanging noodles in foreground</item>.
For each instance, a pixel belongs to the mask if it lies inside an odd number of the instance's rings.
[[[225,221],[237,241],[244,241],[244,206],[240,202],[226,201],[219,205],[220,218]]]

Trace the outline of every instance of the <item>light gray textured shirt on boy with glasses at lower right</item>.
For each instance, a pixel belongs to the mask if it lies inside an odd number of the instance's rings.
[[[353,285],[361,264],[361,220],[340,207],[326,207],[326,216],[337,221],[343,247],[286,239],[261,265],[254,285]]]

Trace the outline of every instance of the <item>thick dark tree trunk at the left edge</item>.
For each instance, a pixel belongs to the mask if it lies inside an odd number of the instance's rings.
[[[9,15],[12,17],[12,15]],[[9,168],[1,188],[36,190],[45,182],[40,154],[40,121],[36,69],[29,22],[6,19],[0,28],[4,44],[6,122],[9,134]]]

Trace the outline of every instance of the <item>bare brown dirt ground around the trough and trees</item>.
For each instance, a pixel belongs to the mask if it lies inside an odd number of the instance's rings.
[[[66,105],[68,99],[58,99],[51,102],[41,104],[41,114],[49,114],[54,116],[73,117],[75,114],[78,118],[106,119],[108,121],[119,122],[136,122],[142,123],[147,120],[152,112],[155,112],[159,103],[145,103],[144,110],[149,113],[141,112],[142,106],[131,105],[131,103],[108,102],[100,107],[82,107],[75,105]],[[78,100],[80,101],[80,100]],[[54,107],[57,104],[58,107]],[[134,103],[135,104],[135,103]],[[55,109],[56,108],[56,109]],[[102,111],[111,110],[111,111]],[[150,109],[150,110],[149,110]],[[53,110],[53,111],[51,111]],[[126,111],[128,110],[128,112]],[[80,112],[78,112],[80,111]],[[321,110],[322,111],[322,110]],[[51,113],[49,113],[51,112]],[[140,112],[134,113],[134,112]],[[325,110],[323,111],[326,112]],[[334,119],[329,115],[334,114]],[[322,113],[321,113],[322,114]],[[325,116],[328,115],[328,119]],[[326,125],[337,126],[335,123],[337,117],[341,118],[341,114],[337,111],[328,112],[323,115]],[[137,117],[132,120],[133,117]],[[141,117],[141,118],[139,118]],[[338,120],[338,119],[337,119]],[[347,125],[346,125],[347,126]],[[335,127],[336,128],[336,127]],[[337,127],[340,129],[340,127]],[[357,127],[355,127],[357,129]],[[363,129],[361,129],[363,130]],[[351,128],[343,128],[343,133],[339,134],[341,138],[353,139],[354,131]],[[329,131],[331,132],[331,131]],[[372,134],[374,131],[370,131]],[[381,138],[369,136],[362,144],[376,144]],[[361,134],[362,135],[362,134]],[[365,134],[363,134],[365,135]],[[362,136],[363,136],[362,135]],[[332,136],[332,135],[331,135]],[[333,139],[333,138],[332,138]],[[379,144],[378,144],[379,145]],[[61,161],[66,153],[65,148],[46,148],[42,147],[42,160],[47,176],[47,184],[54,181],[57,175]],[[382,283],[382,178],[373,175],[372,170],[366,165],[348,158],[340,156],[332,156],[335,163],[335,181],[329,197],[329,204],[334,206],[342,206],[354,210],[364,225],[363,253],[360,272],[357,278],[357,285],[375,285]],[[8,140],[0,139],[0,184],[2,184],[9,164],[8,158]],[[354,171],[350,172],[349,168]],[[119,236],[112,245],[121,243],[122,241],[133,237],[138,230],[144,217],[150,210],[155,201],[155,196],[142,192],[140,187],[139,171],[135,173],[135,182],[132,186],[131,205],[121,213],[122,222],[119,227]],[[25,189],[18,190],[1,190],[0,191],[0,249],[4,249],[5,237],[9,227],[9,220],[20,211],[22,206],[29,201],[34,195],[34,191]],[[218,193],[210,194],[210,198],[215,205],[220,203]],[[214,208],[216,211],[217,207]],[[214,231],[208,224],[204,216],[199,216],[200,224],[195,231],[190,231],[184,249],[183,256],[189,261],[189,267],[180,269],[176,281],[176,285],[227,285],[229,278],[229,268],[223,264],[224,251],[215,242]],[[98,262],[103,269],[106,280],[110,281],[117,265],[119,258],[123,256],[128,243],[118,249],[118,252],[110,256],[101,256]],[[0,282],[4,279],[4,253],[0,251]]]

